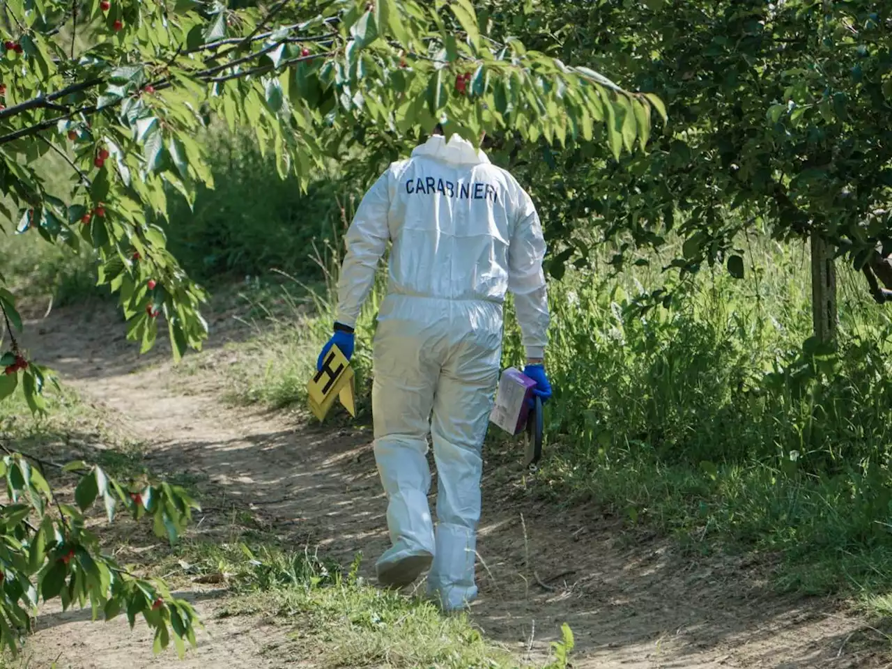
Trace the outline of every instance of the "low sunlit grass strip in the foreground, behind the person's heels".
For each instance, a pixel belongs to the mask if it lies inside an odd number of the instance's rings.
[[[308,551],[289,551],[269,542],[192,542],[178,549],[159,572],[186,565],[194,574],[227,574],[231,596],[219,615],[267,615],[287,619],[296,657],[313,657],[318,666],[517,667],[507,649],[484,640],[467,615],[442,615],[433,603],[384,591],[351,569]],[[568,640],[569,641],[569,640]],[[566,663],[555,648],[548,669]],[[287,647],[277,653],[288,652]]]

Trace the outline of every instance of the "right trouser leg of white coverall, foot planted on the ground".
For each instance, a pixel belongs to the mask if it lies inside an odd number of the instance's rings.
[[[459,344],[442,370],[435,393],[431,434],[437,467],[437,528],[428,591],[447,611],[465,606],[477,595],[481,450],[499,363],[500,348]]]

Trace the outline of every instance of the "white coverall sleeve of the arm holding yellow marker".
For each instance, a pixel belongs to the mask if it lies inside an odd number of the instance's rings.
[[[338,277],[335,318],[345,326],[356,326],[359,311],[375,284],[378,261],[384,255],[390,237],[387,226],[389,209],[389,179],[388,173],[384,172],[359,202],[347,230],[347,254],[341,265],[341,276]]]

